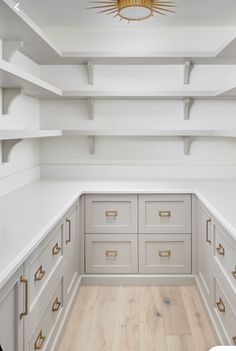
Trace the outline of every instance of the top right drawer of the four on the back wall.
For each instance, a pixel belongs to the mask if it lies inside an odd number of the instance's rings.
[[[191,195],[140,195],[140,233],[191,233]]]

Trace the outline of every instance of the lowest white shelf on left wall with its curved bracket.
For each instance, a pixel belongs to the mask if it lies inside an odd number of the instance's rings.
[[[0,142],[2,143],[2,163],[10,161],[11,152],[15,145],[23,139],[47,138],[61,136],[60,130],[0,130]]]

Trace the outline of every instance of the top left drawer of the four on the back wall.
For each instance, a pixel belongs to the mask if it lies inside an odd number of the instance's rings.
[[[137,233],[137,195],[87,195],[86,233]]]

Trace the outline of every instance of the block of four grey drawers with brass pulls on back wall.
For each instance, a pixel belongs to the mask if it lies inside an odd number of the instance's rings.
[[[191,273],[191,195],[87,195],[86,273]]]

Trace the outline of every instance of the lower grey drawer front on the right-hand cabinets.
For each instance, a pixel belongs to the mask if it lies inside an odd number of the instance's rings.
[[[216,277],[214,277],[214,310],[230,344],[236,345],[236,314]]]

